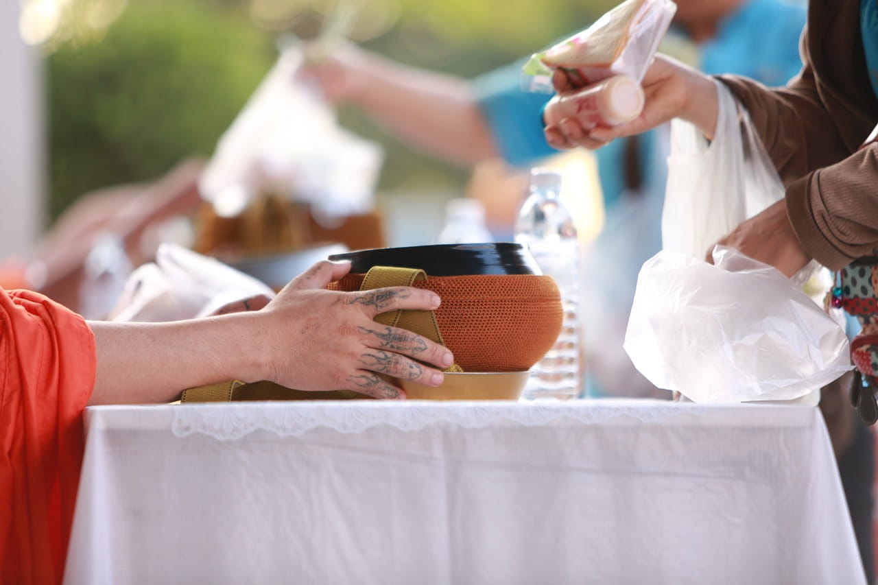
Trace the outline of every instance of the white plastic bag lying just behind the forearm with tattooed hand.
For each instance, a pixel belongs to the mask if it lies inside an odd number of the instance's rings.
[[[155,264],[143,264],[128,277],[111,321],[194,319],[258,295],[271,299],[275,293],[218,260],[163,243]]]

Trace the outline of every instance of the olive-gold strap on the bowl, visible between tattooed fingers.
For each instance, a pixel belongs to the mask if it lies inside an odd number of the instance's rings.
[[[411,286],[419,280],[426,280],[427,273],[417,268],[399,268],[396,266],[372,266],[363,278],[360,285],[361,291],[371,291],[376,288],[387,286]],[[442,332],[436,323],[433,311],[415,311],[397,309],[388,313],[378,314],[375,322],[390,327],[407,329],[430,341],[444,345]],[[463,372],[464,369],[457,364],[452,364],[445,372]]]

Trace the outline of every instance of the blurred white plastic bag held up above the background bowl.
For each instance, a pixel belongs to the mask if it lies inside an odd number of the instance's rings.
[[[310,203],[317,219],[368,213],[384,153],[338,125],[320,91],[297,76],[287,47],[232,126],[199,181],[220,216],[241,213],[260,191]]]

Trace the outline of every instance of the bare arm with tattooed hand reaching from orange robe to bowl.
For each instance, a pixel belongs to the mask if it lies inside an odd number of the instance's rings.
[[[268,379],[300,390],[356,390],[404,398],[378,372],[438,386],[453,363],[443,346],[372,321],[396,309],[431,310],[430,291],[394,287],[337,293],[325,286],[349,263],[315,264],[260,311],[166,323],[90,322],[97,375],[90,404],[176,400],[186,387]]]

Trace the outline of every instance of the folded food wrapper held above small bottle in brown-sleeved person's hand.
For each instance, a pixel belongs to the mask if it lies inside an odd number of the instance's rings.
[[[626,0],[585,31],[533,54],[522,69],[522,86],[551,93],[558,68],[579,87],[617,75],[640,82],[676,11],[671,0]]]

